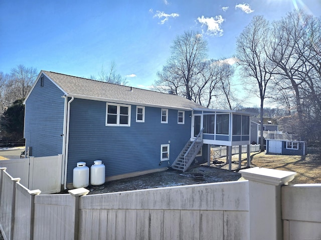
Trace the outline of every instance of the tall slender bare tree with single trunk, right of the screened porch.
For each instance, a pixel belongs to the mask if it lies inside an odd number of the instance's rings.
[[[263,16],[254,16],[236,41],[236,57],[241,67],[242,80],[250,87],[252,94],[258,92],[257,95],[260,97],[261,151],[264,151],[262,131],[264,99],[267,97],[267,86],[273,72],[273,65],[266,56],[270,43],[269,35],[269,22]]]

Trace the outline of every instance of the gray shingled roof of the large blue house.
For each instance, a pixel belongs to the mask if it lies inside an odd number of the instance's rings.
[[[203,107],[200,104],[175,94],[117,85],[51,71],[43,70],[42,72],[65,91],[68,96],[173,108],[191,109]]]

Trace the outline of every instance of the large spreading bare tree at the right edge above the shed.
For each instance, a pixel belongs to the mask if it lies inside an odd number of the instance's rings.
[[[289,12],[273,23],[273,39],[268,54],[277,66],[277,88],[284,96],[288,93],[294,96],[292,105],[300,126],[297,133],[304,139],[316,130],[321,133],[320,127],[311,131],[308,126],[312,124],[306,124],[320,119],[320,29],[319,18],[302,10]]]

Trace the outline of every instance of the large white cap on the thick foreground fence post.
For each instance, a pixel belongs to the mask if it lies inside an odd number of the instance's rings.
[[[245,179],[272,185],[283,185],[293,180],[296,172],[264,167],[252,167],[239,171]]]

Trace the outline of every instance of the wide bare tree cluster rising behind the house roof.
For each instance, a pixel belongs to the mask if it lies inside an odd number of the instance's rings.
[[[223,88],[227,93],[225,97],[230,96],[226,77],[231,77],[234,70],[221,60],[208,60],[207,50],[207,42],[198,32],[187,31],[177,36],[167,64],[157,72],[155,89],[171,90],[206,107],[222,99]]]

